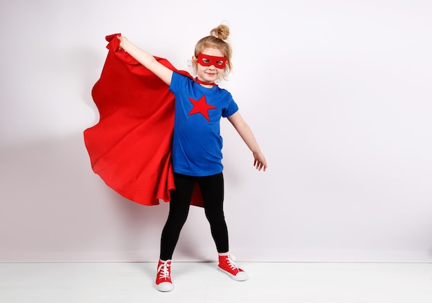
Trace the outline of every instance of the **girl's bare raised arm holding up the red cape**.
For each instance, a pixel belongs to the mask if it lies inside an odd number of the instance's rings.
[[[120,48],[124,49],[124,51],[134,57],[135,60],[157,75],[157,77],[168,84],[168,86],[171,84],[173,70],[159,63],[155,57],[135,46],[135,44],[130,42],[126,37],[118,36],[117,38],[120,40]]]

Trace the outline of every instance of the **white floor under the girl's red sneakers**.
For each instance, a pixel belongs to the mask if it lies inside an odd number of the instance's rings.
[[[174,291],[153,286],[156,263],[0,264],[1,303],[431,303],[431,264],[239,263],[231,280],[215,263],[173,264]]]

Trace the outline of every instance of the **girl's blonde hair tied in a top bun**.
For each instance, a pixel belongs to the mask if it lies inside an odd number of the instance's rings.
[[[228,42],[225,40],[228,39],[230,35],[230,29],[228,26],[221,24],[217,26],[217,28],[213,28],[210,30],[210,36],[206,36],[200,39],[195,46],[195,58],[198,57],[200,52],[204,52],[206,48],[217,48],[222,52],[222,55],[226,57],[226,66],[222,71],[222,78],[226,79],[228,73],[233,69],[233,65],[231,64],[231,55],[233,50]],[[193,60],[192,62],[193,68],[197,69],[197,61]]]

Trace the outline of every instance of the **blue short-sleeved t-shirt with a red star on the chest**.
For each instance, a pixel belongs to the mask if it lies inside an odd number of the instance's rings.
[[[239,109],[228,90],[205,88],[173,72],[175,95],[173,170],[191,176],[222,173],[222,137],[219,121]]]

